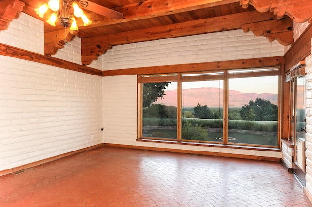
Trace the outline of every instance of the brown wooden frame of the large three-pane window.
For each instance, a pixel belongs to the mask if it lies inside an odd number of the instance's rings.
[[[281,103],[281,89],[282,89],[282,75],[281,67],[264,67],[264,68],[245,68],[245,69],[221,69],[221,70],[206,70],[194,72],[177,72],[168,74],[155,74],[155,75],[138,75],[138,137],[137,140],[155,140],[166,141],[169,143],[192,143],[204,145],[219,145],[215,142],[209,141],[196,141],[196,140],[182,140],[182,82],[204,81],[204,80],[223,80],[223,146],[247,146],[247,147],[264,147],[264,148],[279,148],[281,139],[281,109],[278,107],[278,130],[277,130],[277,146],[258,145],[258,144],[244,144],[244,143],[231,143],[228,142],[228,91],[229,91],[229,78],[244,78],[244,77],[265,77],[265,76],[278,76],[278,104]],[[213,74],[213,75],[211,75]],[[209,77],[209,79],[207,79]],[[142,83],[151,82],[177,82],[177,139],[168,140],[163,138],[152,138],[142,136]]]

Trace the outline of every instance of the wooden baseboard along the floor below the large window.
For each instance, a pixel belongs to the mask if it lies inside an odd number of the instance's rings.
[[[265,161],[273,161],[273,162],[281,161],[281,158],[276,158],[276,157],[262,157],[262,156],[232,154],[232,153],[222,153],[222,152],[179,150],[179,149],[170,149],[170,148],[143,147],[143,146],[120,145],[120,144],[110,144],[110,143],[105,143],[105,146],[133,148],[133,149],[141,149],[141,150],[168,151],[168,152],[178,152],[178,153],[186,153],[186,154],[209,155],[209,156],[215,156],[215,157],[232,157],[232,158],[251,159],[251,160],[265,160]]]

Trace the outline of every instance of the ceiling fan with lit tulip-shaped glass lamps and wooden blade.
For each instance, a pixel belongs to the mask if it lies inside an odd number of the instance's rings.
[[[88,0],[49,0],[48,3],[44,3],[39,8],[36,8],[35,12],[39,17],[43,18],[49,8],[53,13],[47,22],[52,26],[56,26],[55,22],[59,19],[59,24],[65,28],[70,27],[70,30],[78,30],[75,17],[81,17],[84,26],[91,24],[92,21],[87,18],[81,8],[113,19],[123,18],[122,13]]]

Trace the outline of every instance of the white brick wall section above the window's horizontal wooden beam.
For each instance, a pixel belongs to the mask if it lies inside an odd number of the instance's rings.
[[[234,30],[114,46],[100,58],[112,70],[283,55],[276,40]]]

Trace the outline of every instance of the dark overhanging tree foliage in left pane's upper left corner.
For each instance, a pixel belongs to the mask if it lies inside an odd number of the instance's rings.
[[[151,106],[158,98],[163,99],[165,89],[170,82],[144,83],[143,84],[143,108]]]

